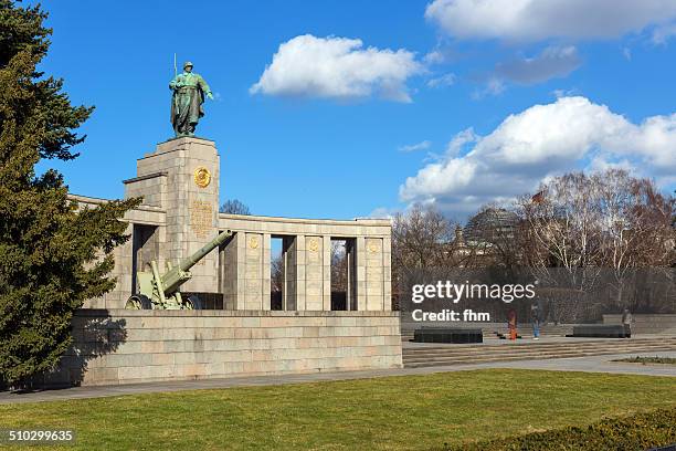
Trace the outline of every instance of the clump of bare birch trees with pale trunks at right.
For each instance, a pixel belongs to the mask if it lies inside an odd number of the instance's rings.
[[[517,212],[526,228],[528,266],[571,293],[590,293],[601,274],[609,275],[604,282],[614,284],[615,305],[625,306],[625,279],[634,270],[673,262],[674,199],[624,170],[553,178],[521,198]],[[600,302],[579,294],[557,301],[553,315],[573,321]]]

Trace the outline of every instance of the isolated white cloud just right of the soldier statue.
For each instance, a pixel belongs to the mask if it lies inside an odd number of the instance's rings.
[[[359,39],[299,35],[279,45],[250,92],[282,96],[411,102],[405,83],[424,72],[408,50],[363,49]]]

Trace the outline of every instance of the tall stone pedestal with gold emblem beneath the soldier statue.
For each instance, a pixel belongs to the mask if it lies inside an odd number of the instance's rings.
[[[125,197],[142,196],[139,209],[163,210],[163,224],[134,226],[134,270],[150,260],[176,265],[219,233],[220,156],[209,139],[182,137],[157,145],[137,160],[137,177],[125,180]],[[189,293],[218,293],[218,250],[190,271]],[[133,282],[135,283],[135,282]]]

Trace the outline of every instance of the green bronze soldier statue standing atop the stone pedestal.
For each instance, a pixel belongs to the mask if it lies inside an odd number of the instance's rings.
[[[177,137],[194,136],[200,117],[204,116],[204,96],[213,99],[209,85],[200,75],[192,72],[190,61],[183,64],[183,73],[178,74],[170,83],[171,125]]]

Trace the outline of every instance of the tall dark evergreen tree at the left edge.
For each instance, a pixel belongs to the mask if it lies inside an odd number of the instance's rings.
[[[72,106],[62,81],[36,65],[51,30],[40,7],[0,0],[0,385],[53,368],[72,343],[73,312],[115,286],[119,219],[137,199],[82,208],[40,159],[71,160],[93,108]]]

